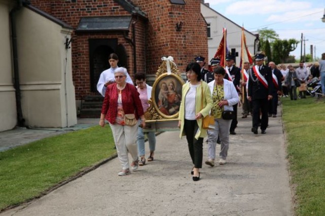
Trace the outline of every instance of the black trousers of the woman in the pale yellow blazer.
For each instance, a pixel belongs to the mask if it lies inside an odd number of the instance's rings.
[[[195,139],[199,129],[197,120],[184,121],[184,131],[188,143],[188,151],[195,168],[202,168],[203,138]]]

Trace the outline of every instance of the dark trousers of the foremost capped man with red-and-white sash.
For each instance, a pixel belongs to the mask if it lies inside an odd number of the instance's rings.
[[[269,103],[268,99],[255,99],[253,100],[253,127],[258,128],[259,123],[259,109],[262,112],[261,119],[261,129],[265,130],[269,123],[268,108]]]

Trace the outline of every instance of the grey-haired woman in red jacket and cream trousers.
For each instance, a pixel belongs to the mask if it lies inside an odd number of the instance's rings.
[[[142,127],[145,127],[145,118],[139,93],[134,85],[125,81],[127,71],[120,67],[114,71],[115,81],[108,85],[102,107],[101,119],[99,124],[104,127],[105,119],[108,120],[117,150],[118,159],[121,162],[122,170],[119,176],[130,174],[127,152],[132,156],[133,162],[131,167],[133,170],[138,168],[138,148],[137,148],[137,123],[133,126],[125,124],[125,114],[135,114],[138,120],[141,118]]]

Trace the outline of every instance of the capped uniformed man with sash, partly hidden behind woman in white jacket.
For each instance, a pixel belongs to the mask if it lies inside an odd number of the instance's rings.
[[[236,88],[237,92],[239,92],[240,91],[240,89],[239,89],[240,77],[241,77],[240,69],[238,67],[236,67],[236,65],[234,64],[235,61],[234,61],[233,56],[226,56],[225,63],[226,63],[225,70],[229,71],[229,73],[231,75],[231,79],[233,80],[233,83],[235,85],[235,88]],[[236,135],[235,128],[237,127],[237,123],[238,123],[238,121],[237,121],[237,106],[238,106],[238,104],[233,105],[235,118],[232,120],[232,123],[230,125],[230,130],[229,130],[230,134],[232,134],[232,135]]]

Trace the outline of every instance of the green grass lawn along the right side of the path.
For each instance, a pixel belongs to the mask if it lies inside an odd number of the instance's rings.
[[[325,215],[325,99],[282,98],[297,215]]]

